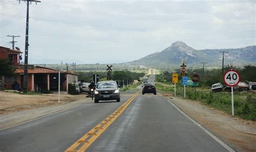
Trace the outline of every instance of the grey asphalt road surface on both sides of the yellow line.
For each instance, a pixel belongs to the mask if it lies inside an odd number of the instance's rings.
[[[122,93],[120,103],[92,102],[3,129],[0,151],[65,151],[134,93],[136,91]],[[159,93],[142,95],[140,91],[87,151],[228,150]]]

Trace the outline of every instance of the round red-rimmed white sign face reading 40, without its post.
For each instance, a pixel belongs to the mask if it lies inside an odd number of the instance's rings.
[[[240,74],[235,70],[228,70],[223,75],[223,80],[228,86],[235,86],[240,81]]]

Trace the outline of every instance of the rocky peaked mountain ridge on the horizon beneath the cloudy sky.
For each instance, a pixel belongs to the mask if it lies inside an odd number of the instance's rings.
[[[187,66],[199,67],[200,62],[207,62],[208,67],[219,67],[222,65],[223,53],[225,64],[244,64],[256,63],[256,46],[248,46],[236,49],[203,49],[196,50],[187,46],[184,42],[174,42],[161,52],[153,53],[142,59],[129,62],[129,64],[140,64],[148,67],[167,68],[179,67],[181,58],[187,57]]]

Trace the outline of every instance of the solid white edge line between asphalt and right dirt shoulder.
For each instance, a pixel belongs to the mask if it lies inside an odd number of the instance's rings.
[[[165,97],[164,97],[165,98]],[[180,108],[178,108],[176,105],[174,105],[173,103],[170,102],[170,100],[166,99],[165,100],[167,102],[169,102],[170,104],[172,104],[175,108],[177,108],[177,110],[182,113],[183,115],[185,115],[189,120],[191,120],[192,122],[194,122],[194,124],[196,124],[198,127],[200,127],[201,129],[203,129],[203,131],[205,133],[207,133],[208,135],[210,135],[215,141],[217,141],[219,144],[221,144],[221,146],[225,147],[228,151],[235,151],[233,148],[231,148],[230,146],[228,146],[225,142],[221,141],[217,136],[215,136],[214,134],[212,134],[210,131],[208,131],[205,127],[203,127],[202,125],[200,125],[197,121],[193,120],[191,117],[189,117],[186,113],[184,113],[183,111],[180,110]]]

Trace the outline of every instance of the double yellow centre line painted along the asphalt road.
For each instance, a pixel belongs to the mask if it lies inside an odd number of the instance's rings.
[[[120,106],[116,111],[114,111],[109,117],[100,122],[97,126],[91,129],[88,133],[86,133],[83,137],[81,137],[78,141],[72,144],[66,152],[75,152],[75,151],[85,151],[99,136],[102,134],[107,127],[109,127],[114,120],[116,120],[119,115],[124,112],[127,106],[133,101],[136,96],[138,96],[139,92],[136,92],[130,99],[128,99],[122,106]]]

